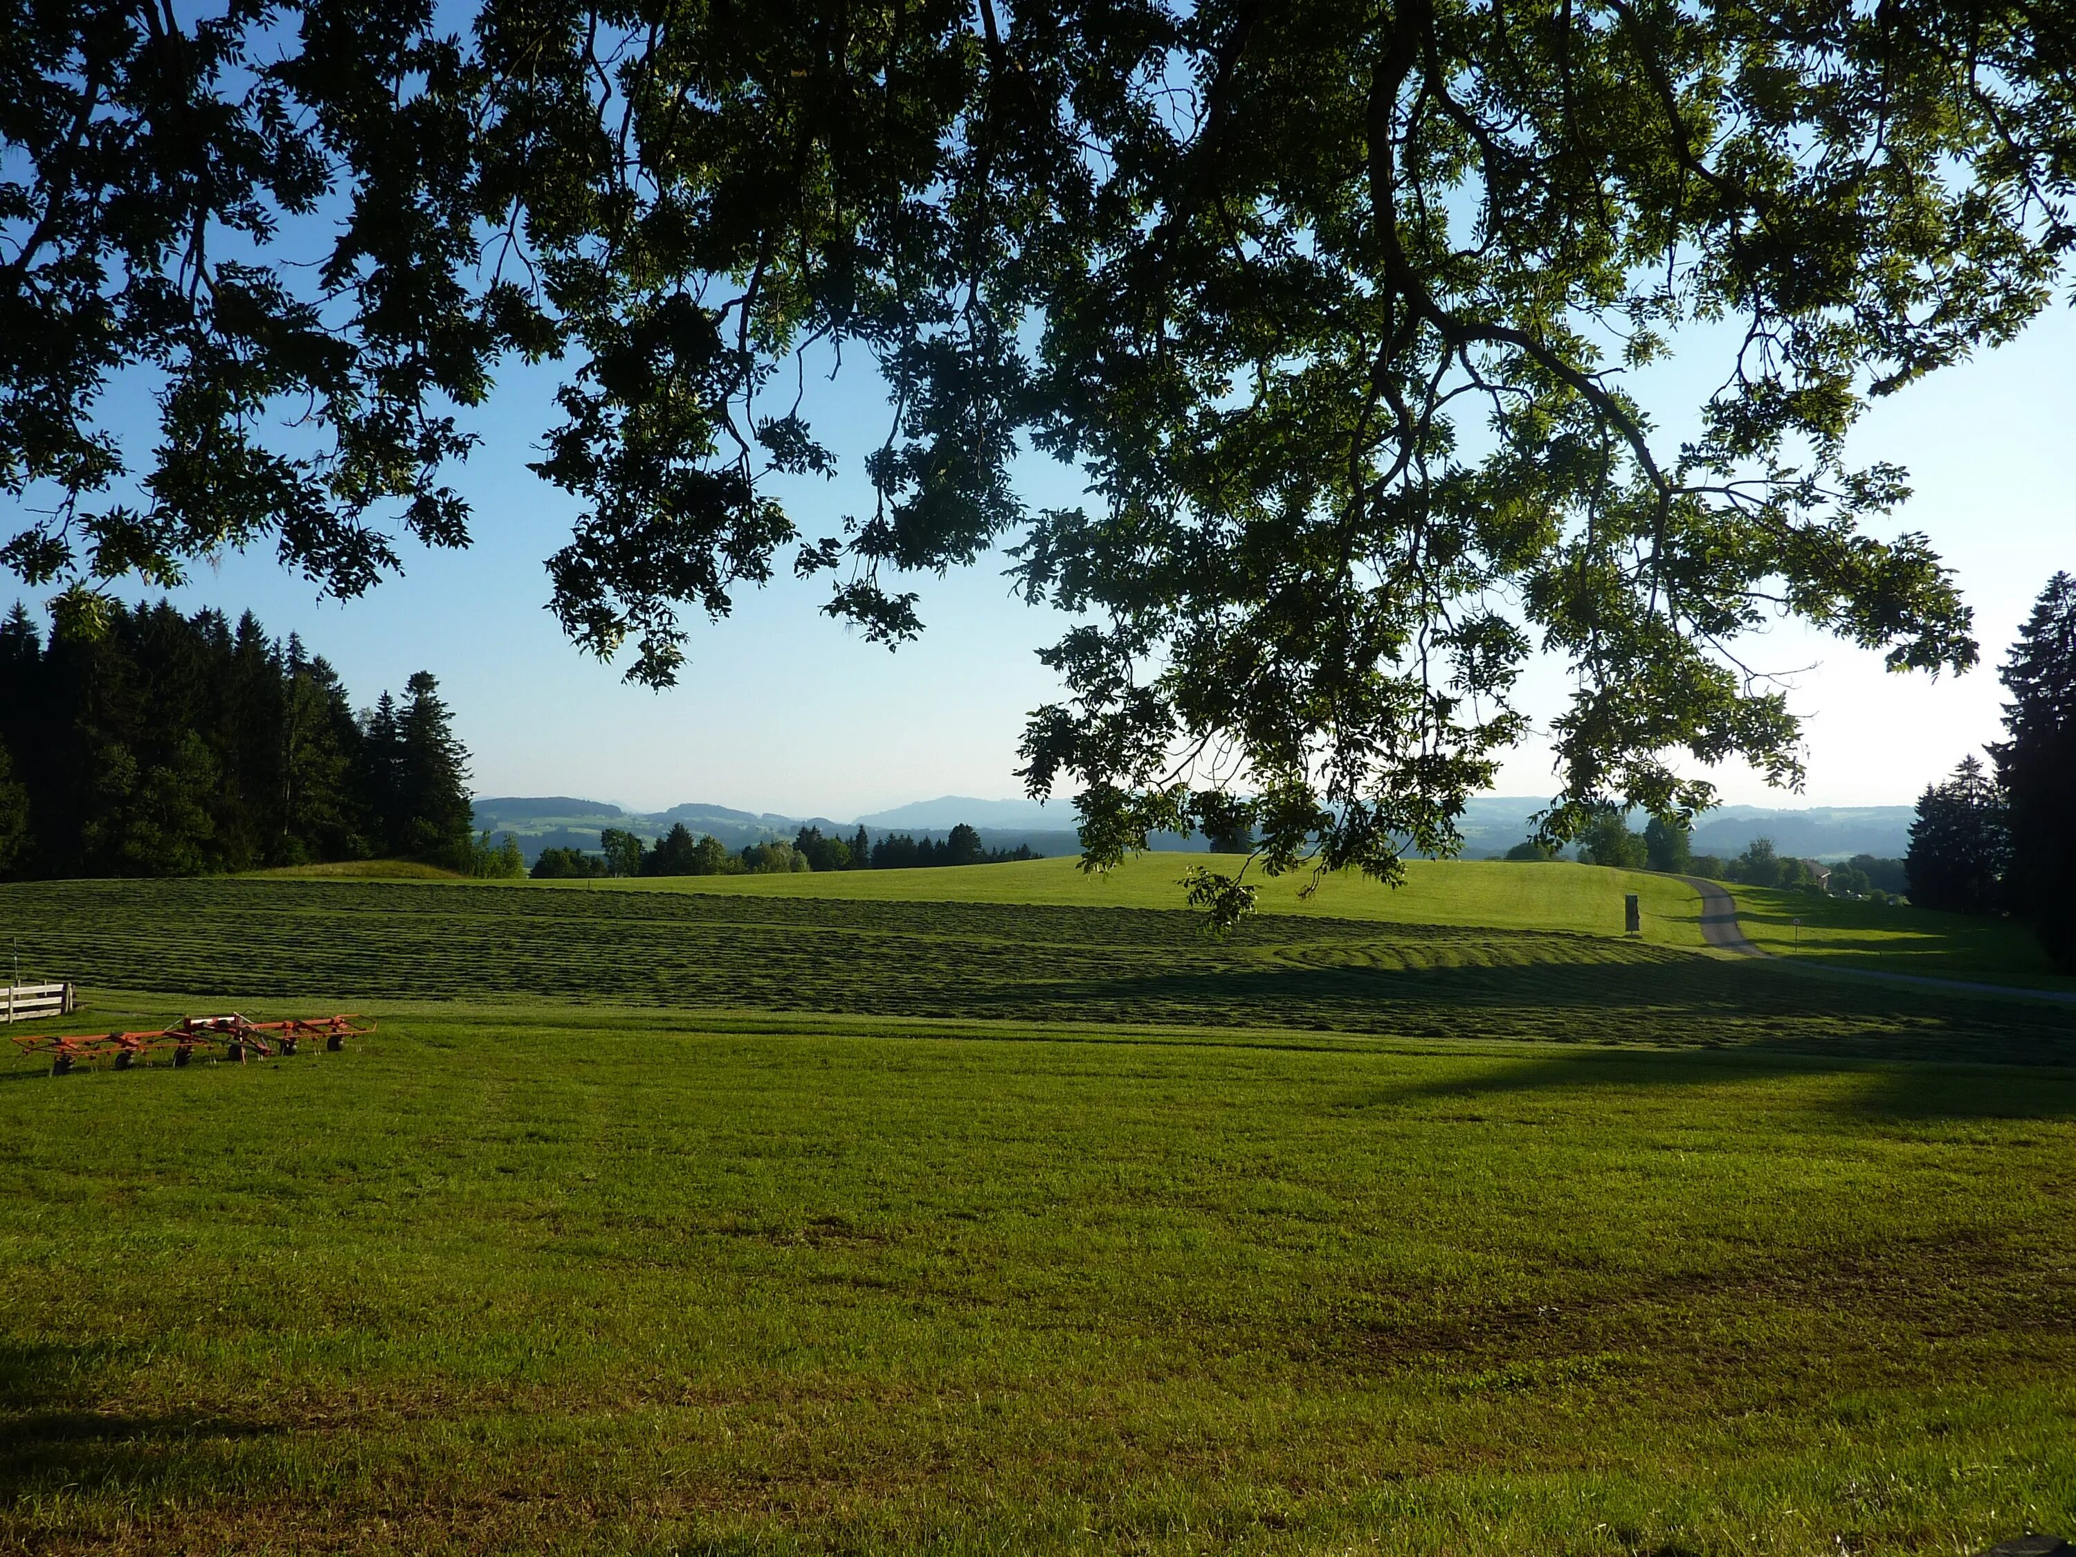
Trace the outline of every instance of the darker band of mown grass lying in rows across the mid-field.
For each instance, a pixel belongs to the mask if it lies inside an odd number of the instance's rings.
[[[0,889],[29,965],[222,999],[482,999],[2064,1061],[2076,1013],[1542,930],[411,882]]]

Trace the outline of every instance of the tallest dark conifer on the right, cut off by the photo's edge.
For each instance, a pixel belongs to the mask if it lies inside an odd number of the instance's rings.
[[[2055,573],[1999,673],[2007,741],[1993,745],[2010,801],[2007,901],[2057,967],[2076,969],[2076,577]]]

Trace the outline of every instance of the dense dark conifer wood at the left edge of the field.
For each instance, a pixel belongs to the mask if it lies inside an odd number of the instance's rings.
[[[245,612],[110,604],[91,631],[0,623],[0,874],[193,876],[413,857],[519,874],[471,837],[438,681],[355,712],[303,639]]]

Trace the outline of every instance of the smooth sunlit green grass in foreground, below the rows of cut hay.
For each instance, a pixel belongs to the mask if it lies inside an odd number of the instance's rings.
[[[403,1005],[0,1163],[0,1547],[2076,1526],[2070,1071]]]

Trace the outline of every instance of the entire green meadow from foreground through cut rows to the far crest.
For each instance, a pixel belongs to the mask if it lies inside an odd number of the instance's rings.
[[[380,1023],[0,1057],[0,1551],[2076,1532],[2076,1009],[1713,957],[1665,878],[1210,940],[1069,866],[0,886],[79,1032]]]

